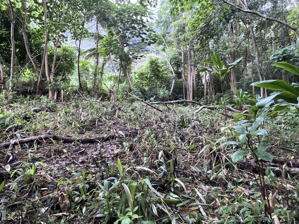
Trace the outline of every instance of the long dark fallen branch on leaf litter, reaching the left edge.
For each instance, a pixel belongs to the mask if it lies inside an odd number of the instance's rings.
[[[125,137],[127,137],[132,134],[124,133],[124,135],[125,135]],[[43,135],[39,135],[39,136],[31,136],[31,137],[24,138],[24,139],[10,140],[10,142],[1,143],[0,148],[9,148],[11,145],[12,146],[22,145],[22,144],[34,142],[36,140],[44,141],[44,140],[50,139],[50,138],[55,141],[62,141],[64,143],[72,143],[72,142],[94,143],[94,142],[97,142],[100,140],[113,139],[114,137],[117,137],[116,134],[100,135],[100,136],[95,136],[95,137],[91,137],[91,138],[73,139],[73,138],[68,138],[68,137],[58,136],[58,135],[53,135],[53,134],[43,134]]]

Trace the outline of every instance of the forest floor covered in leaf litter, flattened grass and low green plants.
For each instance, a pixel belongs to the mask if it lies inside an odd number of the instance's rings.
[[[268,193],[277,193],[267,220],[250,156],[233,164],[235,149],[217,142],[235,122],[194,114],[198,106],[157,107],[165,113],[125,100],[118,111],[43,97],[3,105],[2,142],[53,137],[0,148],[0,223],[296,223],[298,155],[280,146],[299,150],[298,118],[266,122],[269,152],[291,162],[286,175],[283,164],[264,163]]]

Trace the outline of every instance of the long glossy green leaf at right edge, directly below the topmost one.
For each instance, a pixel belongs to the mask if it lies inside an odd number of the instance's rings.
[[[266,81],[254,82],[251,84],[251,86],[252,85],[261,88],[271,89],[271,90],[288,91],[290,93],[299,95],[299,92],[295,89],[295,87],[289,85],[283,80],[266,80]]]

